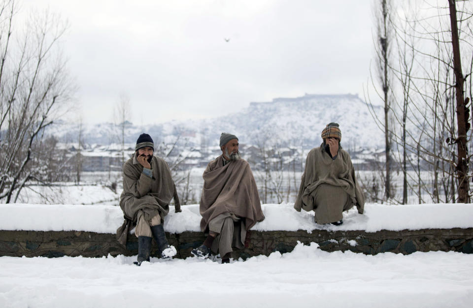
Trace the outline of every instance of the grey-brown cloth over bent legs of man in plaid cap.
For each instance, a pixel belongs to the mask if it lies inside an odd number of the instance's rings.
[[[336,222],[343,211],[353,207],[350,196],[339,186],[322,184],[314,194],[315,221],[318,224]]]

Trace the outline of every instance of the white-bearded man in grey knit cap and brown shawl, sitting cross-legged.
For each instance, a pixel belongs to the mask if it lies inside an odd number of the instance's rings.
[[[233,247],[243,248],[246,231],[265,216],[250,165],[238,152],[238,138],[222,133],[220,149],[222,155],[203,172],[201,230],[208,235],[192,254],[205,259],[213,251],[222,263],[230,263]]]

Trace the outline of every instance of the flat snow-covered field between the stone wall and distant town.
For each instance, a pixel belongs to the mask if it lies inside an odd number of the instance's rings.
[[[305,157],[305,154],[304,154]],[[189,200],[199,202],[200,195],[203,187],[202,174],[205,168],[191,168],[189,170],[181,171],[176,174],[176,179],[185,178],[189,172]],[[257,186],[260,187],[260,193],[263,192],[265,185],[265,173],[258,170],[253,170]],[[285,171],[284,173],[272,172],[271,178],[279,179],[281,185],[278,188],[282,202],[294,202],[296,200],[297,192],[301,182],[302,172]],[[375,182],[378,186],[377,198],[382,198],[382,182],[379,179],[378,171],[357,171],[357,178],[359,184],[365,187],[365,197],[367,202],[370,200],[379,200],[374,198],[372,186],[373,177],[376,178]],[[416,179],[417,175],[413,171],[408,171],[410,179]],[[433,188],[429,186],[429,183],[433,183],[433,175],[431,172],[422,172],[422,179],[425,181],[425,185],[429,192],[423,190],[421,203],[433,203],[432,191]],[[394,193],[394,199],[402,200],[403,194],[403,174],[393,173],[392,174],[392,193]],[[58,182],[54,185],[27,185],[19,194],[17,203],[29,203],[29,204],[110,204],[118,205],[120,194],[122,192],[122,172],[83,172],[81,175],[81,184],[76,185],[73,182]],[[116,184],[116,189],[111,190],[112,183]],[[183,202],[182,197],[184,195],[186,181],[178,185],[178,192]],[[272,187],[273,189],[274,187]],[[275,188],[274,188],[275,189]],[[473,189],[473,186],[472,186]],[[263,194],[260,195],[263,201]],[[440,193],[440,202],[445,201],[445,196]],[[411,190],[408,191],[408,202],[419,203],[418,196]],[[267,203],[277,203],[276,193],[267,196]],[[192,201],[191,201],[192,202]],[[372,201],[373,202],[373,201]],[[390,201],[388,203],[395,203]]]

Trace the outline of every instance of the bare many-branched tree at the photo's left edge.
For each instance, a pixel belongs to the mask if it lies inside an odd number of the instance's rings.
[[[15,13],[15,1],[0,3],[0,199],[6,203],[44,163],[31,162],[72,91],[58,50],[67,24],[49,12],[32,14],[20,34],[13,31]]]

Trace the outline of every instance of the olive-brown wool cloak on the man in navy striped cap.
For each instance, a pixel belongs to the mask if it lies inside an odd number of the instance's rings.
[[[153,178],[143,173],[143,166],[136,160],[135,154],[123,165],[123,192],[120,196],[120,208],[125,221],[117,230],[117,240],[126,245],[129,231],[135,226],[137,213],[142,210],[146,220],[156,215],[169,213],[169,202],[174,198],[176,212],[180,212],[180,203],[176,185],[171,177],[168,163],[157,156],[151,159]]]

